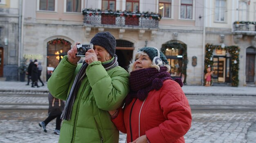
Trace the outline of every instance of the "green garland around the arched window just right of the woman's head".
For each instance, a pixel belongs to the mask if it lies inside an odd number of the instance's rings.
[[[163,44],[161,51],[165,54],[165,51],[167,48],[174,48],[177,50],[182,50],[183,59],[182,59],[182,72],[181,73],[184,74],[184,84],[186,84],[186,68],[187,68],[187,64],[189,62],[186,44],[178,43],[176,41],[171,41],[166,44]]]

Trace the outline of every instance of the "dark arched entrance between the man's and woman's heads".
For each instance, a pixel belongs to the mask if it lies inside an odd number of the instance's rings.
[[[128,69],[130,60],[132,59],[132,53],[134,50],[133,43],[126,40],[116,40],[117,48],[116,55],[118,56],[118,64],[124,69]]]

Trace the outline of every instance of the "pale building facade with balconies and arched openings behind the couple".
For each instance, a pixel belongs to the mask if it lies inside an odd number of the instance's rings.
[[[187,85],[204,85],[207,67],[213,71],[213,85],[256,81],[256,0],[20,2],[18,54],[42,62],[44,80],[75,42],[90,43],[97,32],[109,31],[117,40],[116,54],[124,68],[139,48],[153,46],[165,53],[171,76]]]

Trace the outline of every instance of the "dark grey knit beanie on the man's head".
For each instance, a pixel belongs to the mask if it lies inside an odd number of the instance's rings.
[[[109,54],[113,57],[116,52],[117,42],[110,32],[99,32],[91,40],[93,45],[99,45],[105,48]]]

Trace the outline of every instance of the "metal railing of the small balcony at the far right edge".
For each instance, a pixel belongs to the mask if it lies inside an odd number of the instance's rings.
[[[244,32],[256,32],[256,22],[234,22],[233,24],[234,32],[244,31]]]

